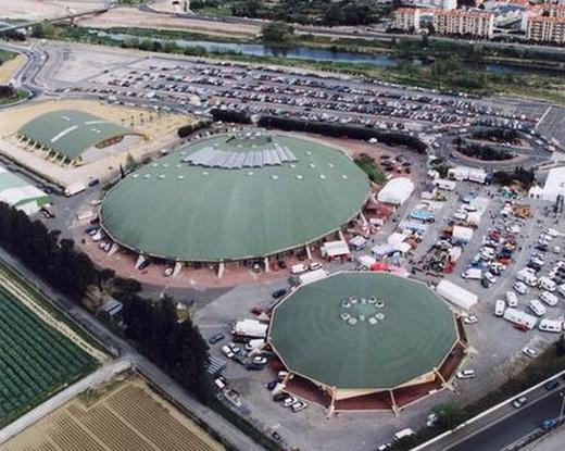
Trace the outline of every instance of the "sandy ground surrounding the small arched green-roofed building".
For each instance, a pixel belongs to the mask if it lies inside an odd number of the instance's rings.
[[[148,137],[134,147],[121,152],[96,160],[78,167],[62,167],[48,162],[39,152],[29,151],[15,136],[17,129],[28,121],[54,110],[80,110],[86,111],[116,124],[134,128]],[[151,118],[151,120],[150,120]],[[176,130],[189,120],[186,116],[174,114],[158,114],[147,110],[126,108],[121,105],[108,105],[90,100],[60,100],[27,103],[0,112],[0,153],[11,160],[17,161],[33,172],[41,174],[45,178],[66,187],[76,181],[87,181],[90,178],[105,179],[118,171],[120,164],[124,164],[128,153],[136,160],[145,155],[158,152],[172,146],[178,138]]]

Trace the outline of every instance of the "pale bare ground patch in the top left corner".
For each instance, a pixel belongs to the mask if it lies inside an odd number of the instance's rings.
[[[68,12],[80,13],[104,5],[103,0],[2,0],[0,3],[1,18],[23,21],[59,17]]]

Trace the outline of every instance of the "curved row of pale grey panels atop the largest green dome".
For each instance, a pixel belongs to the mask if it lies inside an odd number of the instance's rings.
[[[269,149],[235,152],[218,150],[209,146],[188,155],[183,161],[196,166],[237,170],[241,167],[278,166],[298,160],[288,147],[275,143]]]

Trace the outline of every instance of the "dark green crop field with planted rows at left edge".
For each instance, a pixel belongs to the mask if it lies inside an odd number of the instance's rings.
[[[95,366],[89,354],[0,287],[0,428]]]

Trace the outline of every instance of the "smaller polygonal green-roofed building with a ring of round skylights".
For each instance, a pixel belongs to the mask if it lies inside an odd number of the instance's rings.
[[[344,272],[302,286],[275,306],[268,342],[291,374],[339,402],[415,393],[438,380],[441,387],[449,375],[440,369],[461,337],[454,313],[424,284]]]

